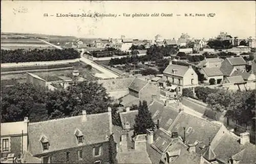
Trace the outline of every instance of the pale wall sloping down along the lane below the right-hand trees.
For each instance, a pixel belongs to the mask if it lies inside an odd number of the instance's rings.
[[[208,107],[207,104],[200,102],[198,100],[192,99],[192,98],[187,98],[187,97],[182,97],[181,103],[197,112],[200,112],[207,116],[210,119],[215,119],[215,112],[212,110],[210,107]],[[217,120],[219,120],[220,116],[222,115],[221,112],[217,112]]]

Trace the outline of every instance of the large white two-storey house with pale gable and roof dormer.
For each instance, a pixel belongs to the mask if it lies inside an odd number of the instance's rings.
[[[198,85],[198,76],[191,65],[182,66],[169,64],[163,71],[164,78],[169,81],[173,88],[182,92],[183,88]]]

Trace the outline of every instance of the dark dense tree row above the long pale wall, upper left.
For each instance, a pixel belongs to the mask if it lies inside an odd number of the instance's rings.
[[[74,49],[1,50],[1,63],[68,60],[79,58],[79,56],[78,51]]]

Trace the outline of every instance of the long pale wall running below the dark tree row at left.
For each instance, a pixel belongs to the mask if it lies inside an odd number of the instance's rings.
[[[22,67],[22,66],[35,66],[35,65],[56,65],[78,62],[79,58],[71,60],[56,60],[56,61],[35,61],[35,62],[22,62],[22,63],[2,63],[1,68],[5,67]]]

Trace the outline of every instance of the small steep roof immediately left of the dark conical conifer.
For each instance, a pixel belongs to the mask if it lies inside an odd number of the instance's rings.
[[[138,110],[119,112],[123,129],[125,129],[125,123],[127,122],[130,124],[130,128],[134,128],[135,118],[137,114],[138,114]]]

